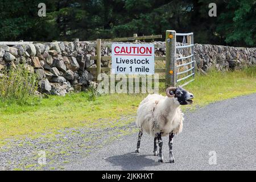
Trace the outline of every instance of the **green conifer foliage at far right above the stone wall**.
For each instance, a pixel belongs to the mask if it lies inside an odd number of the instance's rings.
[[[241,43],[255,46],[256,40],[256,1],[229,1],[227,11],[218,19],[217,31],[225,38],[225,42],[239,46]]]

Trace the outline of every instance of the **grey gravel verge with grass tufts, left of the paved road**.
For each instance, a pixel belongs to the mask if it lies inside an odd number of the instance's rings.
[[[124,119],[135,121],[135,116],[122,117],[118,122]],[[68,128],[59,130],[51,137],[42,134],[42,137],[35,139],[9,139],[0,148],[0,170],[62,170],[65,164],[136,130],[135,123],[131,122],[126,126],[105,129]]]

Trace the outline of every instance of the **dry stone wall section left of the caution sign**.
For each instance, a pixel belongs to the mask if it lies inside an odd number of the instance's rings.
[[[93,80],[86,68],[94,61],[86,42],[52,42],[15,46],[0,45],[0,71],[25,64],[39,78],[39,92],[65,95],[83,90]],[[93,53],[92,53],[93,54]]]

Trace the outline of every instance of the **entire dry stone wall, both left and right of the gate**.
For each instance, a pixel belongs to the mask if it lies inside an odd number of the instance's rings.
[[[86,68],[96,67],[95,61],[90,60],[90,56],[96,56],[96,45],[92,46],[91,43],[51,42],[0,45],[0,72],[5,67],[25,64],[29,71],[38,75],[41,93],[65,95],[73,90],[81,91],[86,89],[89,81],[93,80],[92,73],[86,71]],[[162,45],[162,48],[155,49],[155,56],[164,56],[165,42],[153,44]],[[256,64],[256,48],[195,44],[194,53],[197,69],[206,72],[210,68],[225,71]],[[102,48],[101,55],[110,56],[111,48]],[[186,51],[178,51],[176,56],[185,55],[187,55]],[[108,66],[108,61],[102,61],[102,67]]]

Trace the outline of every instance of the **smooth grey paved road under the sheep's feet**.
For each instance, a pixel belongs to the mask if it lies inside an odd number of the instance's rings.
[[[175,164],[152,155],[153,139],[144,134],[135,154],[137,134],[127,135],[75,163],[69,170],[256,170],[256,94],[210,104],[185,113],[183,133],[174,138]],[[217,164],[209,165],[209,152]]]

